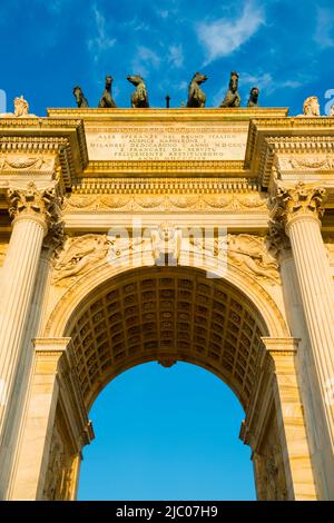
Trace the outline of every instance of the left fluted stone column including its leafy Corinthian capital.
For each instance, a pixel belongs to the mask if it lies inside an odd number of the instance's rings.
[[[10,189],[12,234],[3,265],[0,296],[0,444],[37,278],[43,238],[57,224],[56,186]]]

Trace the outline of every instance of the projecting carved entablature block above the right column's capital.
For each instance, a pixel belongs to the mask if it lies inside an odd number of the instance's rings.
[[[262,187],[275,179],[322,184],[334,193],[334,118],[254,119],[245,168],[257,172]]]

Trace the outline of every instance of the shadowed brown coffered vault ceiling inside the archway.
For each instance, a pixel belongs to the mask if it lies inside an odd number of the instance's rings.
[[[149,267],[91,292],[65,335],[88,408],[121,372],[183,361],[222,377],[246,411],[268,329],[249,298],[224,279],[196,268]]]

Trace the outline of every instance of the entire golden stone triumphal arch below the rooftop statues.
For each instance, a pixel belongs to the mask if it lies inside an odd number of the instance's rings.
[[[0,209],[1,499],[75,500],[94,401],[150,361],[235,392],[259,500],[334,499],[334,118],[9,115]]]

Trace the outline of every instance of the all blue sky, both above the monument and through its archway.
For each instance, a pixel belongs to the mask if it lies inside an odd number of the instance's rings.
[[[261,106],[291,115],[311,95],[323,115],[334,100],[333,0],[0,0],[0,39],[8,111],[21,95],[38,116],[75,107],[77,85],[97,107],[106,75],[117,106],[129,107],[126,77],[137,73],[151,107],[167,93],[180,107],[196,71],[208,76],[207,107],[220,103],[233,70],[243,106],[254,86]],[[206,371],[127,371],[90,416],[97,440],[84,453],[82,500],[255,497],[249,448],[238,441],[242,408]]]

